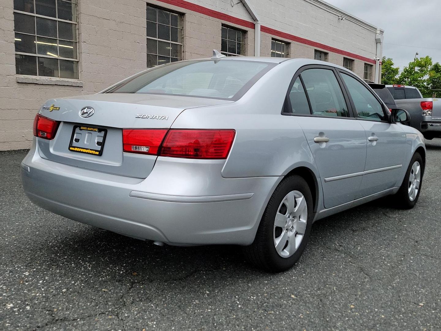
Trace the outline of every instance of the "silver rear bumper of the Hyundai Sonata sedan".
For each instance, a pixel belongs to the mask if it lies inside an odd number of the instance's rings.
[[[31,150],[22,181],[37,205],[101,229],[169,244],[250,244],[280,177],[225,179],[223,162],[207,163],[158,158],[149,177],[138,179]]]

